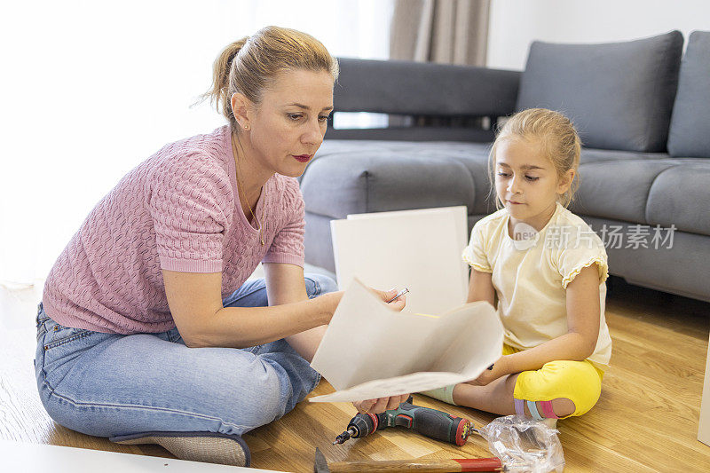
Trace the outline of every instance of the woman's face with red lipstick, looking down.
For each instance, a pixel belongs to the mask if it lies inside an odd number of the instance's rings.
[[[333,83],[327,71],[296,69],[280,73],[264,90],[248,113],[246,132],[264,170],[288,177],[304,173],[326,134]]]

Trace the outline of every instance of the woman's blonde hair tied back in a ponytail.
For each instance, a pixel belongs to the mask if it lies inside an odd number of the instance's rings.
[[[290,28],[265,27],[254,35],[229,44],[213,67],[212,87],[202,96],[225,115],[232,130],[239,130],[232,113],[234,92],[254,104],[261,102],[264,89],[281,72],[304,69],[327,71],[337,80],[338,61],[312,35]]]

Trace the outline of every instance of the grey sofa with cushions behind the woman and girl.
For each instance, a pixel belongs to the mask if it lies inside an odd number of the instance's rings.
[[[684,56],[682,46],[678,31],[536,42],[523,72],[341,59],[336,113],[409,123],[331,123],[301,178],[306,262],[335,270],[329,222],[351,213],[466,205],[470,230],[494,210],[487,159],[496,122],[542,106],[580,130],[571,209],[606,243],[611,274],[710,301],[710,32],[693,32]]]

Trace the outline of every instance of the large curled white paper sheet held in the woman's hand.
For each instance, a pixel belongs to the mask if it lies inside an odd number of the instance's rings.
[[[311,366],[335,393],[312,402],[344,402],[433,390],[467,382],[501,358],[503,327],[485,302],[440,315],[392,311],[353,280]]]

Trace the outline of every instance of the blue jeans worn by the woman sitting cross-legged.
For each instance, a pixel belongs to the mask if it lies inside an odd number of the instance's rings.
[[[307,274],[310,298],[335,290]],[[225,307],[267,304],[264,280],[249,281]],[[320,375],[283,339],[245,349],[187,348],[177,328],[103,334],[60,326],[37,311],[37,388],[59,424],[114,437],[150,431],[241,435],[279,419]]]

